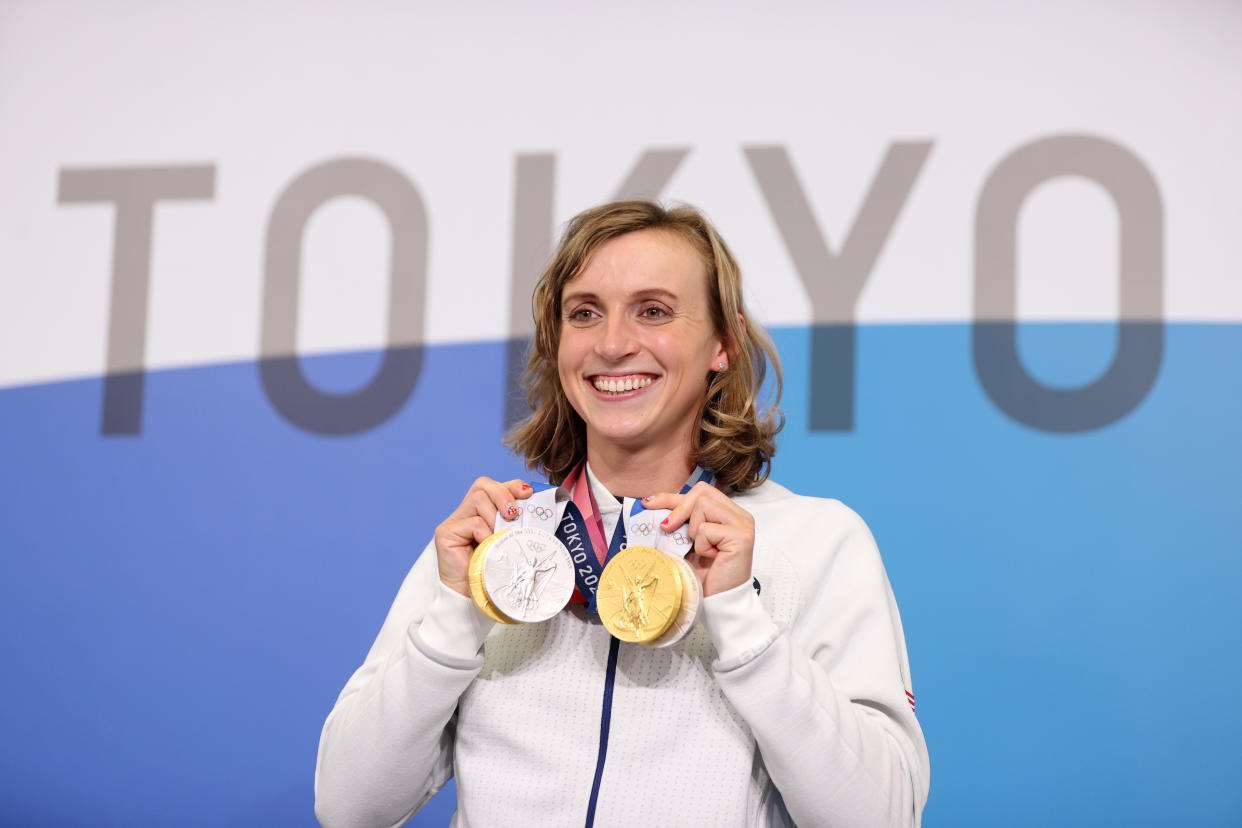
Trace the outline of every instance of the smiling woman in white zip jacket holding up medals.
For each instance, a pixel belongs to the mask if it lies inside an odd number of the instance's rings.
[[[755,400],[776,356],[714,228],[589,210],[533,305],[510,443],[582,504],[600,559],[633,499],[671,510],[700,619],[664,648],[581,603],[496,624],[467,566],[532,488],[479,478],[324,724],[320,821],[399,824],[456,775],[462,826],[918,826],[928,756],[883,565],[846,506],[766,482],[779,425]]]

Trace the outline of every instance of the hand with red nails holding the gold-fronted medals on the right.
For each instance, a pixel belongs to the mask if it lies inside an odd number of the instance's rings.
[[[704,596],[750,581],[755,519],[723,492],[700,482],[686,494],[653,494],[645,498],[642,505],[647,509],[671,509],[660,525],[666,533],[688,526],[694,551],[686,556],[686,561],[694,567]]]

